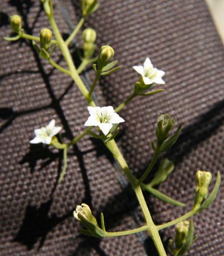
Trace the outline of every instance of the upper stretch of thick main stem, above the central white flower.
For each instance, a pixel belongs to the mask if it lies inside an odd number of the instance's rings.
[[[71,53],[69,52],[68,45],[64,42],[62,35],[60,34],[60,31],[58,29],[58,26],[54,20],[53,15],[49,16],[49,22],[52,26],[52,29],[54,31],[55,38],[57,39],[58,45],[60,47],[60,50],[62,51],[62,54],[64,56],[64,59],[67,62],[67,65],[69,67],[69,70],[71,71],[71,77],[74,80],[74,82],[77,84],[78,88],[80,89],[83,96],[86,98],[88,104],[92,107],[95,107],[96,104],[94,100],[92,100],[92,97],[88,94],[88,90],[83,83],[82,79],[78,75],[78,72],[76,70],[76,67],[74,66]]]

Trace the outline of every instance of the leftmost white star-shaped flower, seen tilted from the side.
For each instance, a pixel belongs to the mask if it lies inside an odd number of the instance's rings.
[[[62,127],[55,126],[55,120],[53,119],[47,126],[34,130],[36,137],[30,140],[30,143],[44,143],[49,145],[52,141],[52,137],[58,134],[60,130],[62,130]]]

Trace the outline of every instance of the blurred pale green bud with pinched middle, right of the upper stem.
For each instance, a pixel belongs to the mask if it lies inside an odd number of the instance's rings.
[[[96,40],[96,31],[91,28],[87,28],[83,30],[82,32],[82,40],[83,40],[83,53],[84,57],[86,59],[90,58],[92,54],[94,54],[96,45],[95,40]]]

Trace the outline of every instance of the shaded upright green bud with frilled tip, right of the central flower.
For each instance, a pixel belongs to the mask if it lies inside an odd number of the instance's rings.
[[[160,115],[157,120],[156,136],[157,147],[160,147],[164,140],[169,137],[169,132],[175,125],[175,118],[170,117],[168,114]]]

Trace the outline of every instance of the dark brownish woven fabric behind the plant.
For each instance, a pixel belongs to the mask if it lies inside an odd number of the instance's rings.
[[[118,106],[132,92],[138,79],[132,66],[143,63],[147,56],[166,71],[165,93],[136,98],[120,112],[125,123],[118,143],[137,176],[152,157],[149,141],[155,139],[157,116],[168,112],[184,123],[178,142],[166,154],[175,162],[175,171],[159,189],[188,206],[174,207],[146,194],[153,220],[164,223],[190,209],[198,169],[213,173],[212,186],[217,170],[223,173],[223,46],[203,1],[100,2],[87,25],[97,30],[98,45],[110,44],[115,49],[123,69],[100,81],[96,89],[99,105]],[[80,2],[54,3],[59,28],[67,34],[68,25],[80,19]],[[58,185],[62,154],[29,144],[34,129],[52,118],[63,126],[63,136],[72,139],[83,130],[88,113],[85,100],[68,76],[39,60],[25,40],[2,40],[10,33],[7,16],[14,13],[23,17],[27,33],[38,35],[48,26],[39,1],[1,2],[0,254],[157,255],[146,233],[111,239],[78,234],[81,225],[72,211],[82,202],[98,217],[104,212],[110,231],[142,225],[142,213],[99,141],[87,136],[69,150],[67,173]],[[65,66],[59,51],[54,58]],[[92,76],[90,71],[86,78]],[[224,255],[223,193],[222,182],[212,207],[194,217],[199,237],[188,255]],[[160,233],[167,245],[174,228]]]

